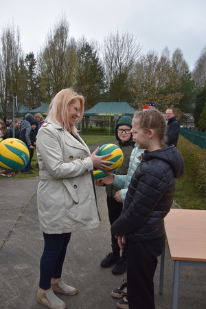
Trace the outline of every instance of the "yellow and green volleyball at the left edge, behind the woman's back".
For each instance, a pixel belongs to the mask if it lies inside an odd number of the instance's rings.
[[[0,142],[0,168],[5,171],[21,171],[30,159],[30,152],[22,140],[7,138]]]

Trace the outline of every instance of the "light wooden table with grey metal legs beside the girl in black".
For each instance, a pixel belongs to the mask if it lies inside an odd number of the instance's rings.
[[[180,266],[206,266],[206,211],[171,209],[165,217],[165,231],[174,261],[172,309],[177,309]],[[165,248],[161,255],[159,293],[163,292],[164,259]]]

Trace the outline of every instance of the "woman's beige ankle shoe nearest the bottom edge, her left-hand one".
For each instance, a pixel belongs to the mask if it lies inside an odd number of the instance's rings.
[[[37,292],[37,302],[41,303],[41,305],[46,306],[50,309],[65,309],[67,308],[67,303],[65,301],[62,301],[60,298],[58,298],[52,288],[49,288],[49,290],[45,293],[41,293],[39,288]]]

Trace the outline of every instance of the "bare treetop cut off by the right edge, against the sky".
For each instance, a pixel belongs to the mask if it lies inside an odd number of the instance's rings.
[[[204,87],[206,85],[206,45],[201,52],[201,56],[198,58],[194,65],[192,72],[196,84]]]

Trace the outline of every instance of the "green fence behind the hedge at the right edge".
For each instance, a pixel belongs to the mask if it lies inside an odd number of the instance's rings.
[[[206,132],[199,132],[191,129],[180,129],[180,134],[193,142],[193,144],[201,147],[202,149],[206,149]]]

